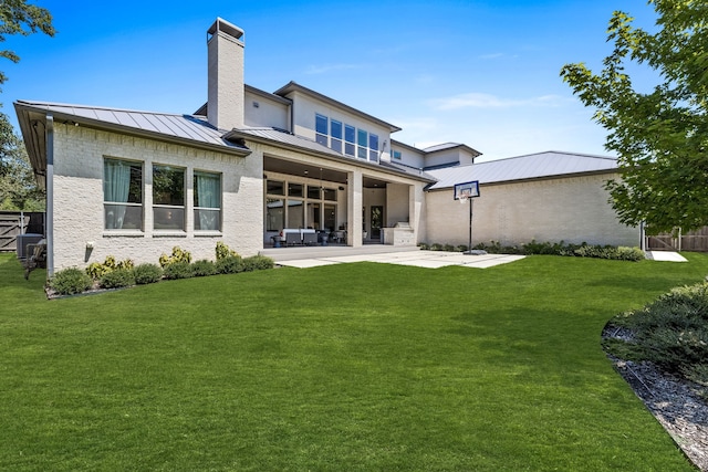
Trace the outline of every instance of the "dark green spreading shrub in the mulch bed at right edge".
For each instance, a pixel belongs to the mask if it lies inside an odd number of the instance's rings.
[[[708,283],[671,290],[643,308],[615,316],[611,325],[634,337],[606,343],[627,360],[649,360],[670,374],[708,387]]]

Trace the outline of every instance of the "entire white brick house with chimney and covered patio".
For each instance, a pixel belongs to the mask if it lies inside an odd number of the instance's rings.
[[[209,28],[208,102],[194,114],[14,103],[48,191],[50,273],[107,255],[154,263],[175,245],[212,259],[217,241],[252,255],[288,230],[351,247],[466,242],[448,183],[485,169],[473,164],[478,151],[398,143],[392,135],[400,128],[293,82],[274,93],[246,85],[242,35],[221,19]],[[559,162],[573,156],[556,154]],[[616,162],[603,164],[502,182],[481,172],[476,242],[638,242],[606,202],[601,180]],[[559,218],[554,199],[574,201],[572,217]],[[409,238],[385,241],[398,223]]]

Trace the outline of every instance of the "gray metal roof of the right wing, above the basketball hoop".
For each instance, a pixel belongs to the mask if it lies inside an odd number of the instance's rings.
[[[438,180],[428,190],[439,190],[472,180],[485,185],[616,170],[617,159],[614,157],[549,150],[427,172]]]

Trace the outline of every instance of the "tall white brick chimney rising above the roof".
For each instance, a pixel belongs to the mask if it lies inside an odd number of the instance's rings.
[[[221,129],[243,127],[243,30],[217,18],[207,30],[207,119]]]

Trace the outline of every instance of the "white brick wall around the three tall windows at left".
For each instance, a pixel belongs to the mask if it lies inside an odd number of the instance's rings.
[[[103,162],[105,157],[136,160],[143,166],[144,231],[104,230]],[[153,230],[152,166],[184,167],[187,230]],[[192,171],[221,174],[221,231],[195,232]],[[55,124],[54,133],[54,270],[103,262],[107,255],[135,263],[157,263],[179,245],[195,260],[215,259],[217,241],[239,254],[257,254],[261,245],[262,157],[246,158],[114,133]],[[86,243],[93,242],[92,251]]]

